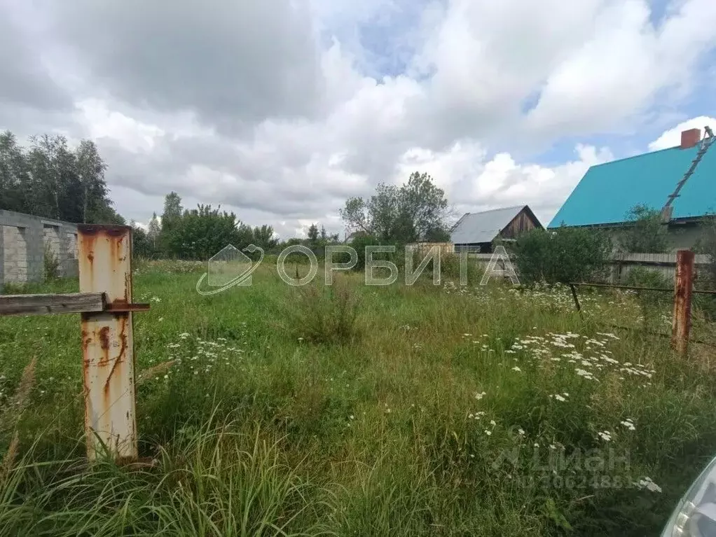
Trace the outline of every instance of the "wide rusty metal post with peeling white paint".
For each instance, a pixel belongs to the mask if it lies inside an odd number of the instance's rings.
[[[79,291],[105,293],[111,311],[82,314],[84,429],[89,460],[137,458],[129,226],[77,226]]]

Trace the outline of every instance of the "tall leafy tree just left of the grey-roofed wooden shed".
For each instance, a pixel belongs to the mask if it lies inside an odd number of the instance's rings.
[[[341,217],[351,231],[363,231],[380,241],[412,243],[445,229],[448,200],[427,173],[414,172],[407,183],[377,185],[369,200],[349,198]]]

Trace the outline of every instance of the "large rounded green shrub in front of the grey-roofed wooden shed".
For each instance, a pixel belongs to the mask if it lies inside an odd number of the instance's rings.
[[[521,281],[549,284],[595,279],[606,268],[611,241],[588,228],[533,229],[517,239],[517,268]]]

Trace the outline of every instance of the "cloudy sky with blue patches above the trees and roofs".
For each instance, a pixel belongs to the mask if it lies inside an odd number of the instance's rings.
[[[430,173],[548,223],[590,165],[716,128],[714,0],[0,0],[0,129],[94,139],[117,210],[176,190],[281,236]]]

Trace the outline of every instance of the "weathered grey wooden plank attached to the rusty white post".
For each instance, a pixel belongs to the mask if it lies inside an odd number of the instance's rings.
[[[0,295],[0,316],[86,313],[103,309],[102,293]]]

